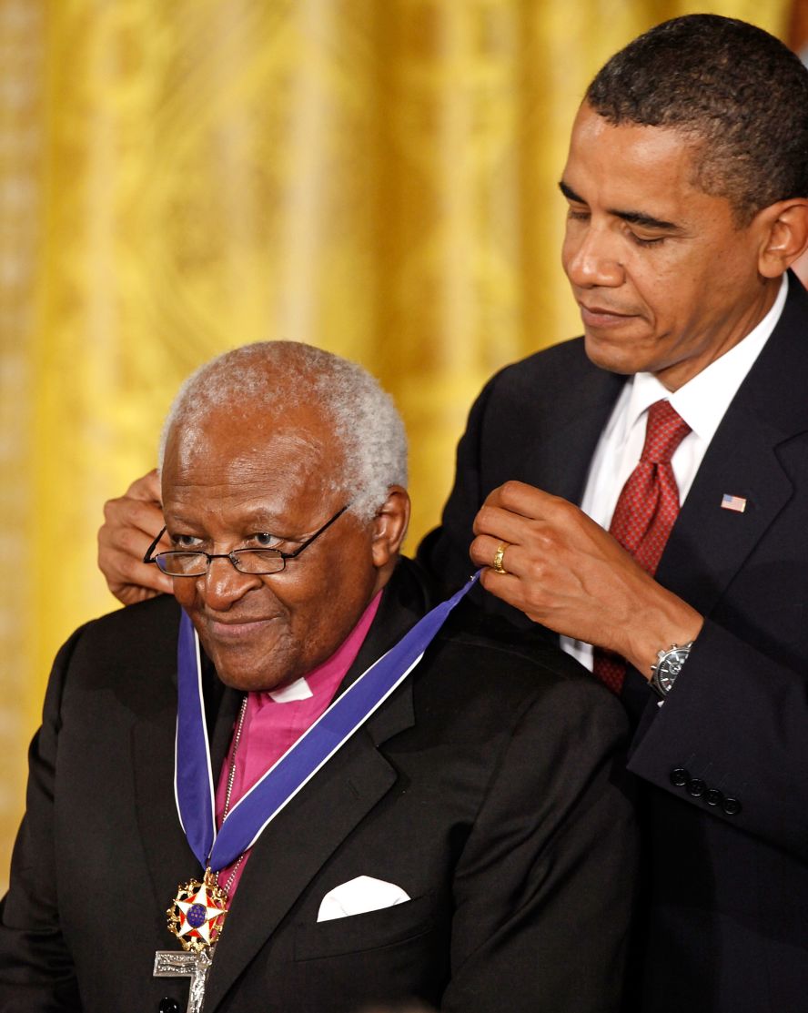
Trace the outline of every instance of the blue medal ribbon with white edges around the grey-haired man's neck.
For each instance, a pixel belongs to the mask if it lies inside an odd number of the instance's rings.
[[[179,822],[193,854],[215,872],[247,851],[264,828],[328,763],[420,661],[450,612],[479,572],[427,612],[397,644],[338,696],[279,760],[242,796],[216,833],[214,779],[205,722],[199,642],[183,612],[177,645],[178,699],[174,790]]]

